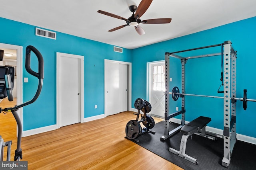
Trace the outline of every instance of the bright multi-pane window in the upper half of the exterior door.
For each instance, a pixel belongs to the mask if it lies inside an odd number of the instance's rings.
[[[165,65],[153,66],[153,90],[165,91]]]

